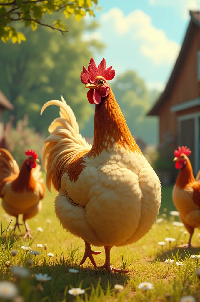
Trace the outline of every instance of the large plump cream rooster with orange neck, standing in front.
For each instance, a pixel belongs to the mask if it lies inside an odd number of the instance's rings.
[[[90,245],[104,246],[106,268],[112,275],[110,250],[138,241],[151,229],[161,203],[160,181],[142,155],[127,127],[123,114],[107,80],[115,71],[106,69],[105,59],[96,67],[91,58],[83,66],[81,81],[88,101],[95,104],[92,146],[79,133],[70,106],[48,101],[60,107],[60,117],[49,127],[43,146],[46,185],[58,196],[55,213],[64,229],[85,241],[85,253],[96,266]],[[127,272],[127,270],[124,270]]]

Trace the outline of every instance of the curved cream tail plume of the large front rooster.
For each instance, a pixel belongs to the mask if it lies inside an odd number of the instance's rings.
[[[79,133],[76,117],[69,105],[61,96],[62,101],[52,100],[45,103],[41,115],[50,105],[60,107],[60,117],[56,118],[48,128],[50,135],[46,138],[42,153],[43,166],[46,174],[46,186],[51,192],[51,186],[57,192],[61,188],[61,178],[68,162],[79,152],[92,148]]]

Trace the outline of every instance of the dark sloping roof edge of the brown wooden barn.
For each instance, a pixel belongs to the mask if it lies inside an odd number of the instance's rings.
[[[171,76],[169,78],[169,81],[164,89],[164,92],[161,94],[158,101],[154,104],[152,109],[148,112],[147,115],[158,115],[158,110],[162,106],[162,104],[165,102],[165,100],[169,97],[174,81],[177,79],[180,73],[180,69],[183,65],[183,61],[185,59],[185,55],[189,49],[190,42],[192,41],[193,34],[195,32],[196,26],[200,27],[200,11],[190,11],[189,12],[191,16],[191,20],[183,41],[182,48],[180,50],[179,56],[177,58],[177,61],[174,65],[173,71],[171,73]]]

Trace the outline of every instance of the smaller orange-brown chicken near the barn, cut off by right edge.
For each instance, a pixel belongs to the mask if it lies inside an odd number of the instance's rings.
[[[174,151],[173,159],[180,172],[173,187],[172,199],[179,211],[180,220],[190,234],[188,243],[179,246],[183,248],[191,246],[194,229],[200,226],[200,182],[194,178],[192,165],[187,157],[190,154],[187,146],[179,146],[178,150]]]

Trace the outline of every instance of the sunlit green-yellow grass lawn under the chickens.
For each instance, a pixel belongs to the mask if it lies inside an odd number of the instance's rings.
[[[172,187],[164,187],[162,209],[175,210],[171,200]],[[0,279],[12,281],[17,284],[19,293],[27,302],[64,302],[64,301],[170,301],[178,302],[184,295],[192,295],[196,301],[200,297],[200,283],[195,275],[196,260],[190,259],[190,255],[198,254],[199,230],[195,230],[192,244],[195,248],[188,250],[178,249],[177,245],[185,243],[189,235],[180,232],[180,227],[174,227],[172,221],[174,217],[169,217],[164,222],[155,223],[152,230],[139,242],[125,247],[114,247],[111,250],[111,263],[116,268],[128,268],[128,274],[116,273],[111,276],[106,270],[98,270],[90,262],[85,262],[79,266],[80,259],[84,252],[84,242],[69,233],[60,226],[54,215],[55,194],[47,192],[43,201],[43,209],[36,217],[29,220],[29,226],[36,231],[37,227],[42,227],[43,232],[34,233],[35,239],[23,240],[16,232],[12,236],[11,231],[6,231],[12,217],[2,216],[2,236],[0,248]],[[47,223],[46,220],[51,220]],[[176,218],[177,219],[177,218]],[[12,220],[11,225],[15,223]],[[168,229],[169,228],[169,229]],[[184,228],[183,228],[184,229]],[[3,230],[5,230],[3,232]],[[184,229],[185,230],[185,229]],[[24,232],[24,229],[23,229]],[[10,234],[11,233],[11,234]],[[163,248],[158,245],[158,241],[163,241],[165,237],[173,237],[175,242],[166,243]],[[36,244],[47,244],[47,250],[38,248]],[[21,246],[30,246],[41,255],[29,255]],[[10,251],[18,250],[15,257]],[[95,248],[101,250],[101,248]],[[54,254],[48,257],[47,253]],[[102,265],[105,260],[105,253],[94,255],[98,265]],[[30,276],[28,278],[16,278],[11,272],[14,265],[27,266],[27,259],[32,258],[33,266],[29,267]],[[165,259],[174,260],[173,265],[164,262]],[[10,268],[5,267],[5,261],[10,260]],[[184,266],[178,267],[175,262],[182,261]],[[200,263],[200,261],[199,261]],[[69,273],[69,268],[79,270],[77,274]],[[43,283],[43,291],[38,281],[34,277],[36,273],[47,273],[52,277],[51,281]],[[138,284],[143,281],[152,282],[154,289],[147,291],[138,289]],[[114,285],[121,284],[124,290],[115,293]],[[80,296],[71,296],[68,293],[70,288],[83,288],[86,293]],[[170,294],[167,297],[166,294]],[[4,301],[4,300],[2,300]]]

